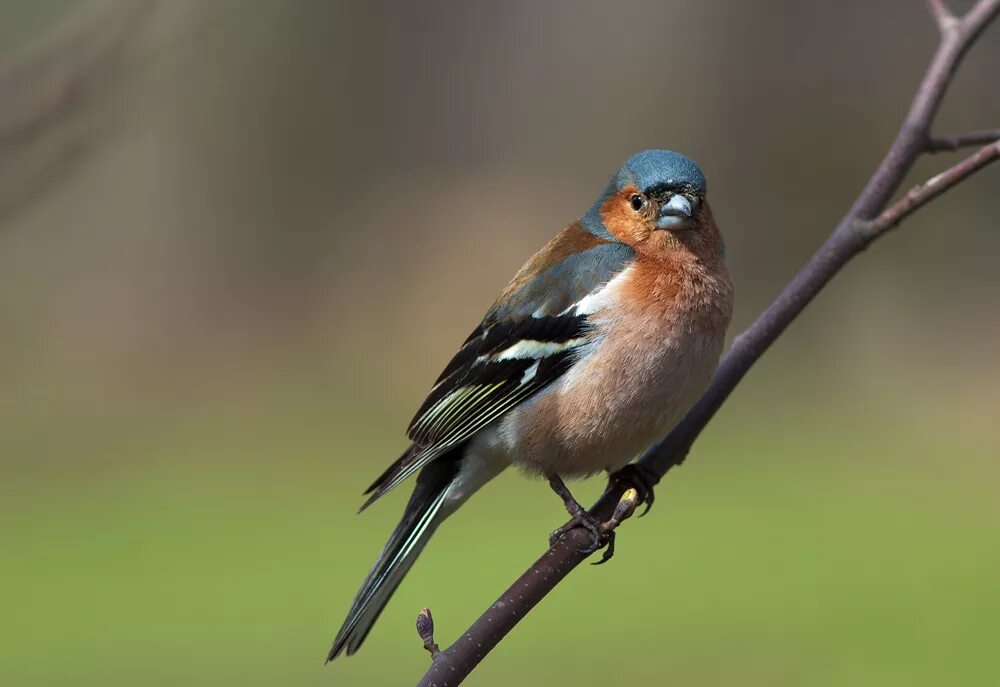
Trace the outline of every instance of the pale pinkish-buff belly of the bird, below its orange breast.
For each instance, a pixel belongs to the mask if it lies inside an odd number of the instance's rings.
[[[618,326],[563,378],[498,427],[510,459],[562,477],[617,470],[665,436],[698,399],[723,332]]]

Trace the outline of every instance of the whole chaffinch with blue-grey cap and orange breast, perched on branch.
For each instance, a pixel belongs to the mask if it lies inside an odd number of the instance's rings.
[[[606,545],[565,480],[634,467],[683,418],[718,364],[733,292],[698,165],[670,150],[625,160],[500,293],[417,410],[410,447],[365,492],[362,511],[418,473],[327,662],[358,650],[438,526],[507,467],[563,500],[571,519],[554,538],[583,527],[588,552]]]

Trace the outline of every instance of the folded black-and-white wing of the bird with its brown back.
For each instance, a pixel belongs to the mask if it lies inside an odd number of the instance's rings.
[[[522,268],[441,372],[410,422],[413,446],[372,485],[366,508],[569,370],[591,338],[593,296],[634,258],[571,225]]]

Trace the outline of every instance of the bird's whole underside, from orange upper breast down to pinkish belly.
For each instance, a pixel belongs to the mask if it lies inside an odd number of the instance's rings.
[[[732,312],[728,273],[665,273],[639,260],[591,316],[594,342],[499,427],[513,462],[542,474],[617,469],[665,435],[704,391]]]

